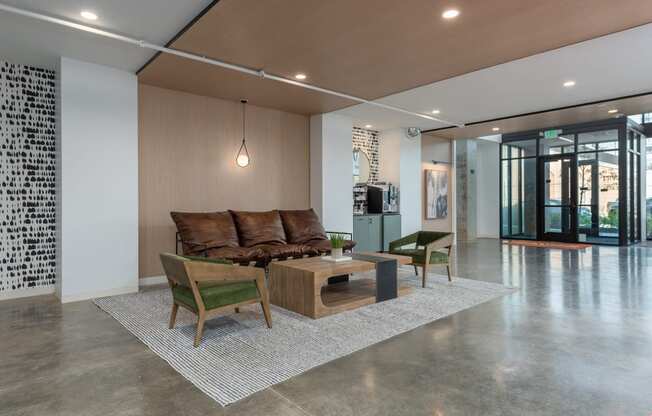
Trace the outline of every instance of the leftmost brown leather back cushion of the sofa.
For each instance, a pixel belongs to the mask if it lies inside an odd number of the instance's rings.
[[[228,212],[171,212],[170,215],[181,234],[184,254],[202,254],[210,248],[238,247],[238,232]]]

